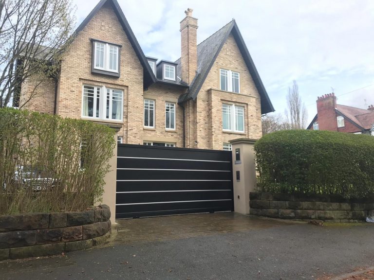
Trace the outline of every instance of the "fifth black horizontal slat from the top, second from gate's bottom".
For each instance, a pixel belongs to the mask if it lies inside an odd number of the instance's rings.
[[[116,204],[145,203],[160,201],[191,201],[191,200],[216,200],[231,199],[232,192],[127,192],[116,194]]]

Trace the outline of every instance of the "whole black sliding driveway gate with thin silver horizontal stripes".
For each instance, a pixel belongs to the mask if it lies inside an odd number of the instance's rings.
[[[115,218],[232,211],[229,151],[118,144]]]

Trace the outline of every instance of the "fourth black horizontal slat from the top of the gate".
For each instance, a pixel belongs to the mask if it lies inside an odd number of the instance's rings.
[[[220,190],[232,189],[232,182],[227,181],[195,181],[193,184],[190,181],[131,181],[131,182],[117,182],[117,192],[131,192],[131,191],[180,191],[180,190]]]

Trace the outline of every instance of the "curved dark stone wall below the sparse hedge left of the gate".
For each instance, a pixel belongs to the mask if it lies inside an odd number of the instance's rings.
[[[0,216],[0,261],[56,255],[100,244],[109,236],[111,211]]]

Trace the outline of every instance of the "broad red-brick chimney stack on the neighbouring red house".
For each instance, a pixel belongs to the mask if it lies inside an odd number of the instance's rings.
[[[334,92],[330,94],[318,96],[317,99],[317,115],[318,127],[320,130],[337,131],[337,97]]]

